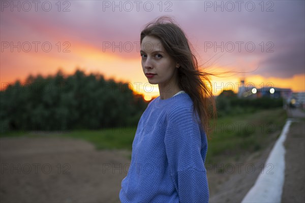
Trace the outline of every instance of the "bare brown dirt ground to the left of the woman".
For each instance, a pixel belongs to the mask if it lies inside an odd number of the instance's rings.
[[[1,138],[0,149],[1,202],[119,202],[129,168],[130,152],[79,140]]]

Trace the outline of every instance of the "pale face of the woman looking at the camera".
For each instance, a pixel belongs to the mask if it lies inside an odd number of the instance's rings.
[[[179,63],[168,55],[158,38],[144,37],[140,54],[142,57],[142,69],[150,84],[169,85],[169,87],[177,84],[177,67],[179,67]]]

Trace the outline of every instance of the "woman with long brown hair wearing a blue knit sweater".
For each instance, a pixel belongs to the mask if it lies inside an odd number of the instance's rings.
[[[137,126],[121,202],[208,202],[205,125],[214,110],[209,74],[198,70],[184,32],[168,17],[141,32],[142,68],[160,96]],[[213,108],[209,108],[212,105]]]

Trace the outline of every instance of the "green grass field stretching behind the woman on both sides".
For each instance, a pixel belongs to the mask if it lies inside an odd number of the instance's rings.
[[[254,152],[268,145],[280,134],[285,121],[283,109],[263,110],[256,113],[245,113],[226,116],[218,119],[208,140],[207,163],[215,163],[217,156],[238,156]],[[108,128],[101,130],[72,130],[56,132],[8,132],[1,137],[69,137],[93,143],[96,149],[132,149],[132,142],[137,126]]]

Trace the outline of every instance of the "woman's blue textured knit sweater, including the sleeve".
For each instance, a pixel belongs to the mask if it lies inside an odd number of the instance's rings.
[[[121,202],[208,202],[206,134],[187,93],[152,100],[132,144]]]

